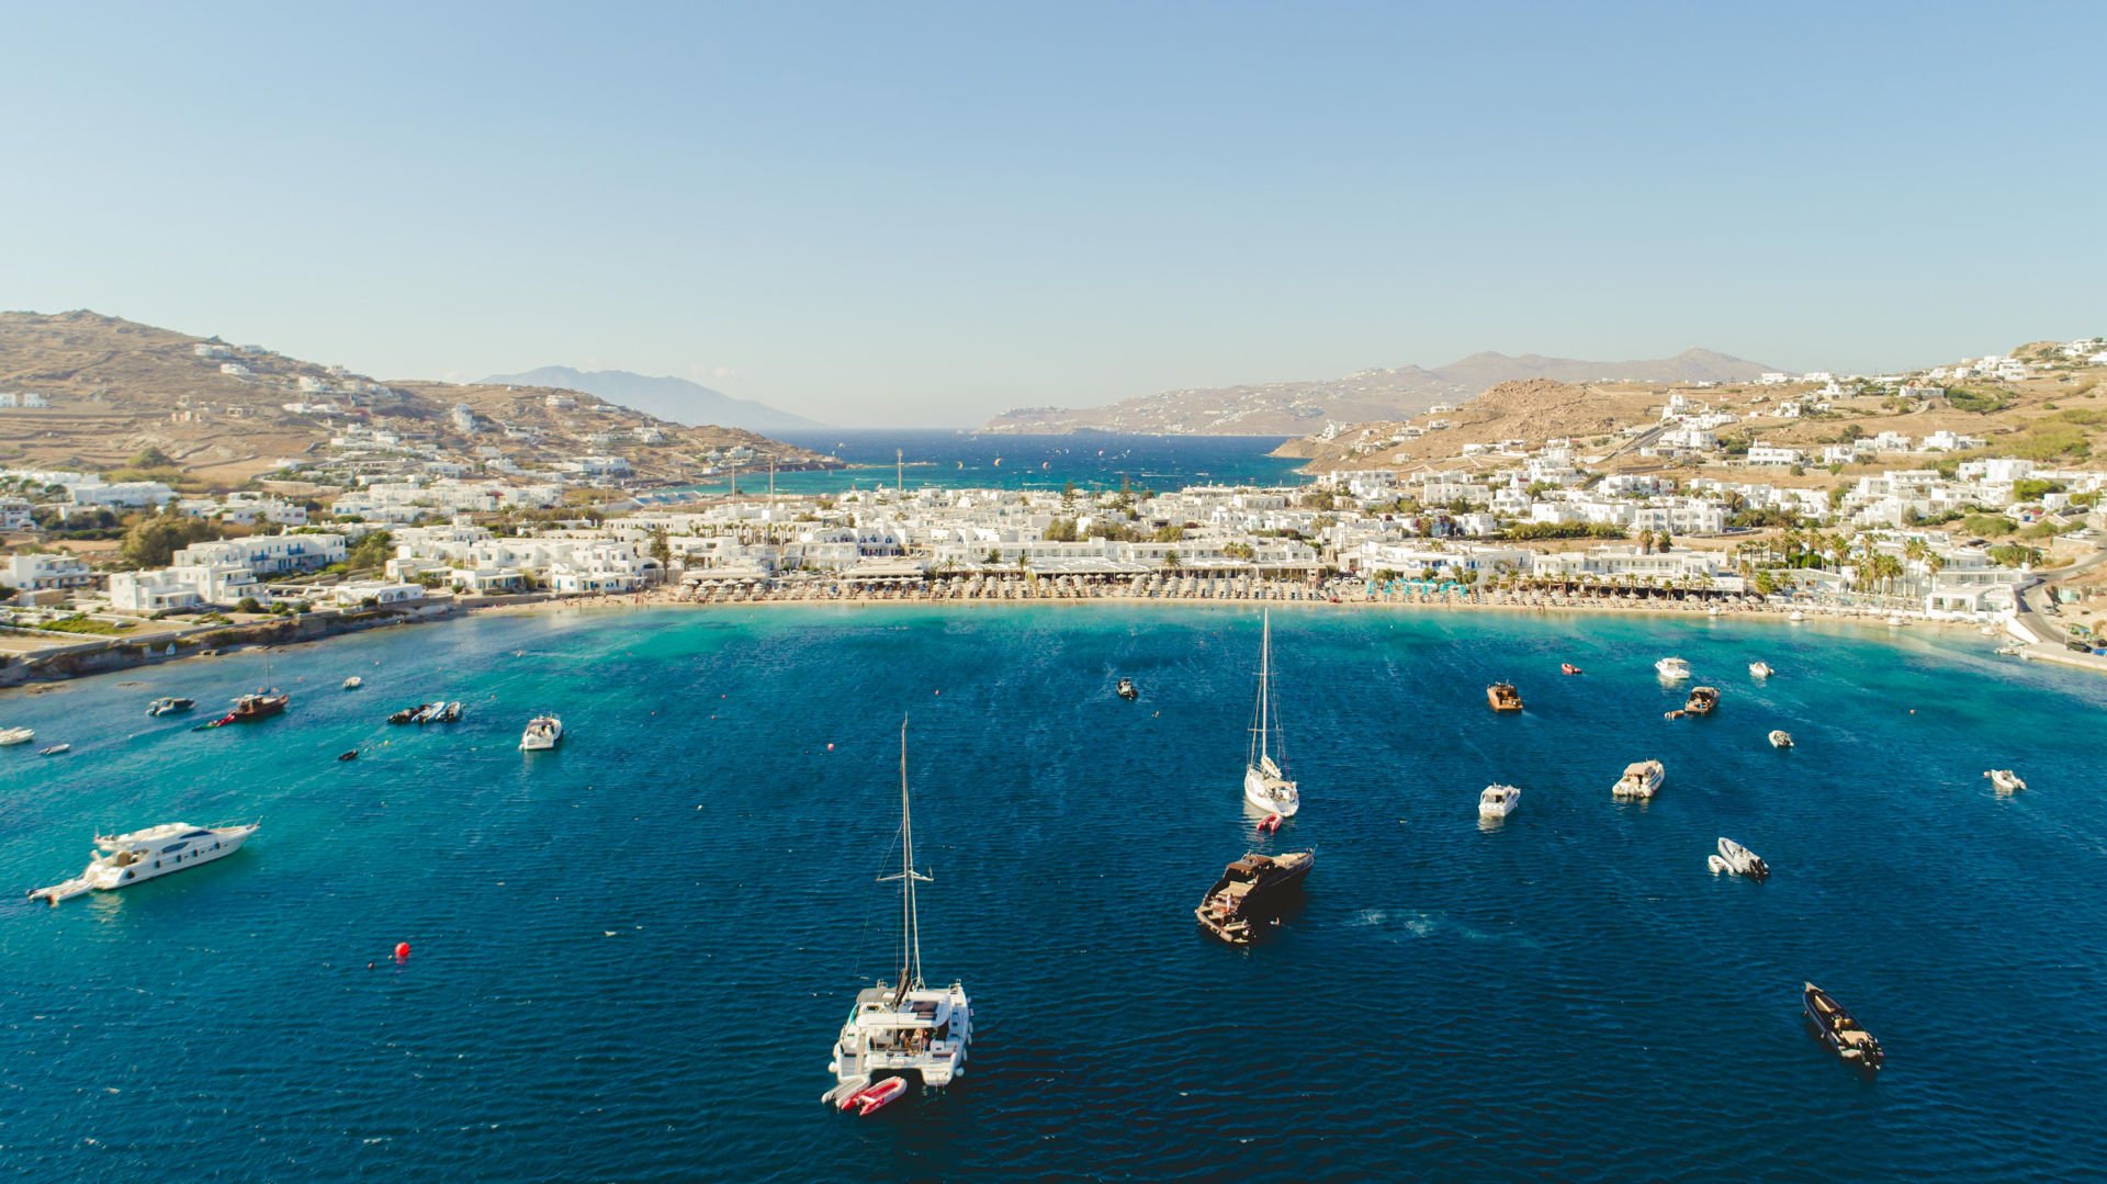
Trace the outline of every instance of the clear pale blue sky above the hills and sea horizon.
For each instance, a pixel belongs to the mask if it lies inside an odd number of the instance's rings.
[[[0,308],[834,423],[2107,333],[2107,4],[0,4]]]

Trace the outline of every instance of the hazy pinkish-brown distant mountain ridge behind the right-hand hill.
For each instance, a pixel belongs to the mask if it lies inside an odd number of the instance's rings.
[[[1462,402],[1502,381],[1749,381],[1772,369],[1713,350],[1683,350],[1673,358],[1635,362],[1471,354],[1437,369],[1399,367],[1340,379],[1167,390],[1094,409],[1022,407],[997,415],[982,432],[1302,436],[1317,432],[1327,419],[1407,419],[1437,402]]]

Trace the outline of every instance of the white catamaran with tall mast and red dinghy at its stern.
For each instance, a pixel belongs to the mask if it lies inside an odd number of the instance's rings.
[[[820,1096],[839,1110],[860,1117],[889,1106],[910,1077],[940,1089],[965,1072],[965,1049],[973,1039],[973,1007],[965,984],[931,988],[921,971],[921,916],[914,885],[931,876],[914,870],[914,817],[908,811],[908,721],[900,721],[900,978],[879,980],[855,992],[855,1005],[834,1039],[834,1087]]]

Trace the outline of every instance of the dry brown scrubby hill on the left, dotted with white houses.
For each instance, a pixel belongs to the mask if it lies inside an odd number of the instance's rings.
[[[51,400],[48,409],[0,409],[0,463],[110,470],[154,447],[190,476],[213,485],[240,485],[301,457],[352,421],[343,415],[287,411],[287,402],[335,402],[375,428],[426,438],[461,453],[499,445],[523,466],[617,451],[647,478],[674,480],[695,468],[693,457],[714,447],[746,445],[784,461],[813,461],[813,453],[733,428],[683,428],[603,404],[590,394],[565,392],[571,409],[548,407],[544,388],[455,388],[432,381],[375,383],[259,348],[234,348],[225,358],[196,354],[192,337],[95,312],[0,312],[0,392],[25,390]],[[221,373],[221,364],[247,375]],[[299,379],[327,390],[301,390]],[[392,394],[373,388],[386,386]],[[466,402],[478,415],[541,434],[537,445],[506,440],[487,430],[466,436],[449,411]],[[634,434],[664,434],[643,445]],[[594,445],[592,434],[626,432],[615,445]]]

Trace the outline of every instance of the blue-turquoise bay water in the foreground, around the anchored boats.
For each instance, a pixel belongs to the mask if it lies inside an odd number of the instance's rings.
[[[11,693],[0,723],[74,742],[0,750],[15,891],[76,872],[97,828],[263,830],[124,893],[0,900],[0,1165],[2096,1171],[2107,683],[1974,634],[1279,611],[1308,805],[1277,843],[1319,862],[1277,935],[1230,950],[1190,906],[1252,843],[1256,640],[1249,607],[567,611],[278,653],[293,710],[215,733],[143,704],[209,708],[263,655]],[[1726,691],[1717,716],[1660,718],[1665,653]],[[1494,676],[1528,712],[1485,710]],[[381,723],[440,693],[470,706],[453,729]],[[541,710],[563,750],[516,752]],[[847,999],[885,971],[902,712],[925,954],[980,1024],[963,1085],[853,1121],[818,1096]],[[1660,798],[1612,803],[1641,756],[1669,767]],[[2000,801],[1993,765],[2031,788]],[[1481,830],[1490,780],[1523,798]],[[1774,879],[1707,874],[1719,834]],[[1888,1045],[1877,1083],[1801,1032],[1806,978]]]

